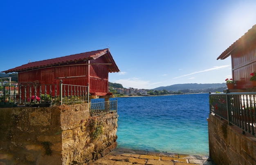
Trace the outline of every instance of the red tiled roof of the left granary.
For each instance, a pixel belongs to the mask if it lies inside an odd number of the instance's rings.
[[[58,57],[58,58],[52,58],[48,60],[42,60],[42,61],[36,61],[36,62],[29,62],[25,65],[21,65],[19,67],[8,69],[6,71],[1,71],[4,73],[11,73],[11,72],[20,72],[25,70],[31,70],[31,69],[39,69],[42,67],[52,67],[56,65],[66,64],[70,62],[77,62],[81,60],[94,60],[99,58],[100,56],[103,56],[104,54],[109,54],[109,56],[112,58],[109,49],[102,49],[97,51],[90,51],[80,54],[74,54],[70,56],[64,56],[64,57]],[[111,59],[112,65],[110,65],[110,72],[119,71],[117,65],[115,64],[115,61]]]

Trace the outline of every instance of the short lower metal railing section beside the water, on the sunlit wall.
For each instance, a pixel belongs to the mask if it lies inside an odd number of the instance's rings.
[[[90,116],[99,116],[117,112],[117,99],[112,101],[95,102],[90,105]]]

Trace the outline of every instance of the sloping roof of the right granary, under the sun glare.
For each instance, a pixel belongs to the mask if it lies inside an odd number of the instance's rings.
[[[225,59],[228,56],[231,55],[232,51],[236,49],[240,45],[247,45],[249,42],[252,42],[256,40],[256,25],[252,27],[252,29],[249,29],[245,35],[243,35],[241,38],[236,40],[230,47],[228,47],[218,58],[218,59]]]

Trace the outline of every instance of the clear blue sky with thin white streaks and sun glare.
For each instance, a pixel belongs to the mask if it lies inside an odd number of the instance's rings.
[[[0,1],[0,71],[110,48],[109,81],[153,89],[224,83],[216,60],[256,24],[255,0]]]

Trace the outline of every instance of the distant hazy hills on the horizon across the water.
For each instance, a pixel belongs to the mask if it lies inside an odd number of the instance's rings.
[[[227,89],[226,83],[215,83],[215,84],[197,84],[197,83],[191,83],[191,84],[175,84],[170,85],[166,87],[157,87],[153,90],[167,90],[167,91],[181,91],[183,93],[208,93],[220,91],[223,92],[223,90]]]

